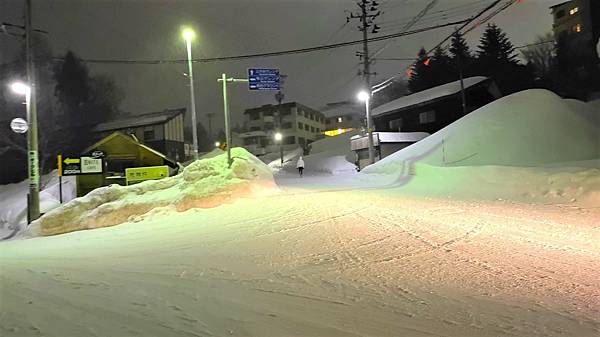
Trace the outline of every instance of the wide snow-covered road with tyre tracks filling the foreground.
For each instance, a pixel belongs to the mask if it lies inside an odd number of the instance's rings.
[[[1,242],[0,335],[600,336],[600,210],[308,178]]]

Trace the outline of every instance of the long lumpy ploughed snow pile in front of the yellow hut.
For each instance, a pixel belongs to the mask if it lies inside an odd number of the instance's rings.
[[[53,235],[139,221],[153,213],[216,207],[235,198],[275,189],[271,170],[243,148],[197,160],[183,172],[131,186],[110,185],[72,200],[33,222],[28,235]]]

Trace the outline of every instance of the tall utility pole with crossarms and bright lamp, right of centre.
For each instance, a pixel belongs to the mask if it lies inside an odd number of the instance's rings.
[[[357,55],[362,59],[363,70],[362,74],[365,79],[365,91],[368,94],[369,98],[365,99],[366,111],[367,111],[367,137],[369,139],[369,162],[373,164],[375,162],[375,151],[373,145],[373,127],[371,123],[371,116],[369,114],[370,110],[370,102],[371,102],[371,75],[375,75],[371,73],[371,59],[369,58],[369,28],[373,27],[371,30],[372,34],[378,32],[380,27],[375,24],[375,19],[381,15],[381,11],[378,10],[377,6],[379,3],[375,0],[360,0],[357,3],[360,11],[358,13],[350,13],[349,17],[346,17],[346,22],[350,22],[351,19],[359,19],[360,25],[358,26],[358,30],[363,34],[363,51],[357,52]]]

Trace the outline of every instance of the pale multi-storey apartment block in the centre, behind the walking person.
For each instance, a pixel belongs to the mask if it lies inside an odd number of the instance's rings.
[[[248,132],[239,134],[239,138],[251,153],[263,155],[279,151],[279,143],[274,139],[277,129],[283,136],[285,150],[307,149],[310,143],[322,137],[325,116],[321,112],[296,102],[284,103],[280,121],[277,109],[277,105],[268,104],[244,112]]]

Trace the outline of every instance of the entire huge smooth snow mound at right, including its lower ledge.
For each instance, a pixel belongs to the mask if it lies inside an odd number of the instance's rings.
[[[526,90],[362,171],[436,196],[600,205],[600,109]]]

